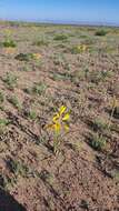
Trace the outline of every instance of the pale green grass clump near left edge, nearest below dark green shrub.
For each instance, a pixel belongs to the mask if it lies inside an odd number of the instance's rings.
[[[12,90],[12,89],[14,89],[17,87],[18,78],[12,73],[7,72],[6,77],[2,78],[2,80],[6,83],[8,89]]]

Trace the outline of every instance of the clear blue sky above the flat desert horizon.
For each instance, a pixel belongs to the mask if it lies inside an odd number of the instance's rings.
[[[0,0],[0,19],[119,24],[119,0]]]

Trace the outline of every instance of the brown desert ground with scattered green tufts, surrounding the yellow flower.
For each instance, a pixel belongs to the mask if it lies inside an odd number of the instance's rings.
[[[0,22],[1,191],[0,211],[119,211],[118,28]]]

